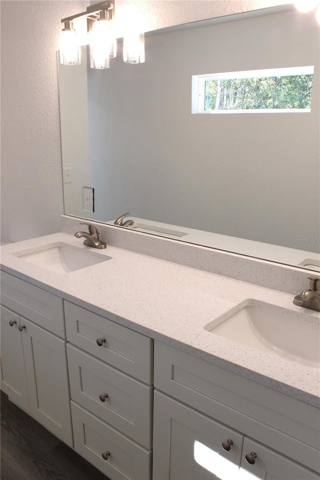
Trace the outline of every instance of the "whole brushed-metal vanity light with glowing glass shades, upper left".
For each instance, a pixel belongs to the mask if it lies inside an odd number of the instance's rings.
[[[109,68],[109,59],[116,56],[116,39],[113,33],[114,3],[105,0],[86,8],[86,11],[62,18],[64,28],[60,34],[60,62],[65,65],[80,63],[80,46],[73,20],[86,17],[88,43],[90,45],[90,67]],[[123,61],[144,62],[144,33],[127,33],[123,37]]]

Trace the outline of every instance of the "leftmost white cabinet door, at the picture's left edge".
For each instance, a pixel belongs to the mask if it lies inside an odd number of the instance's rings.
[[[29,412],[19,316],[1,305],[1,390]]]

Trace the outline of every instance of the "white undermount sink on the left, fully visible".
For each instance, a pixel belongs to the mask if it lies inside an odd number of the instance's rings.
[[[25,253],[20,251],[14,253],[14,255],[33,265],[53,271],[54,273],[68,273],[111,258],[110,256],[101,255],[92,250],[84,251],[81,248],[73,247],[66,243],[51,244],[38,251],[28,250]]]

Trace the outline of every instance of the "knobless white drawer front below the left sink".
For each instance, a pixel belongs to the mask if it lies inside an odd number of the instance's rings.
[[[62,298],[1,271],[1,303],[65,338]]]

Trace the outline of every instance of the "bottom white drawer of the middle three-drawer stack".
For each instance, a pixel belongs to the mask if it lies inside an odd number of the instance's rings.
[[[112,480],[149,480],[146,450],[71,400],[74,449]],[[102,453],[109,452],[107,459]]]

